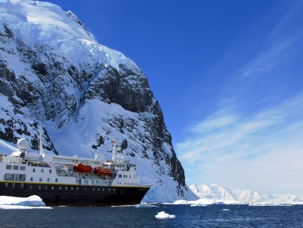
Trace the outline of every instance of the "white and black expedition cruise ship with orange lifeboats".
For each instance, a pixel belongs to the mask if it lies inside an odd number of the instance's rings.
[[[45,154],[40,138],[39,154],[28,152],[28,141],[17,142],[19,151],[0,154],[0,195],[38,195],[46,205],[140,204],[151,185],[140,184],[136,165],[124,160],[115,140],[112,159]]]

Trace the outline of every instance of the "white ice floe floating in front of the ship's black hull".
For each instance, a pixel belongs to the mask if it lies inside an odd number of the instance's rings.
[[[49,209],[51,207],[45,207],[44,202],[39,196],[32,195],[25,198],[13,197],[13,196],[0,196],[0,208],[1,209],[33,209],[33,208]]]

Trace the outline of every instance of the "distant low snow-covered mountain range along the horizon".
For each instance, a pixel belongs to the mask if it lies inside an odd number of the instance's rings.
[[[252,190],[239,190],[214,185],[191,185],[190,188],[200,199],[216,201],[238,201],[247,204],[303,204],[296,195],[260,195]]]

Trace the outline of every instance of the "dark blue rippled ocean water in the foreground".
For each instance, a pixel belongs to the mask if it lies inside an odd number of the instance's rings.
[[[303,227],[303,206],[157,205],[1,209],[1,227]],[[165,211],[175,218],[157,219]]]

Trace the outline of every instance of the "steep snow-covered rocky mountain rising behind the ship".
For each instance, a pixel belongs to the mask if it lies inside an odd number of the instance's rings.
[[[140,68],[71,11],[0,0],[1,145],[27,138],[34,150],[40,130],[44,150],[81,157],[109,152],[115,137],[142,183],[153,184],[145,202],[196,198]]]

